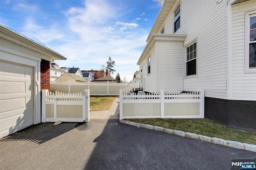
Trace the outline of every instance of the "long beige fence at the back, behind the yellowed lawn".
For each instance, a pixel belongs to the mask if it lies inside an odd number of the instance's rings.
[[[85,89],[90,90],[90,95],[119,95],[119,90],[126,87],[128,83],[75,83],[50,81],[51,91],[62,91],[64,93],[79,93]]]

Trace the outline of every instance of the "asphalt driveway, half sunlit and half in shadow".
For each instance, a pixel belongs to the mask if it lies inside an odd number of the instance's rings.
[[[116,124],[117,123],[117,124]],[[41,123],[0,139],[0,169],[222,169],[255,152],[92,119]]]

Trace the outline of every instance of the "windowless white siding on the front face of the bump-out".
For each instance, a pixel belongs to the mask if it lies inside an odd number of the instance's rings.
[[[157,42],[158,89],[183,91],[183,42]]]

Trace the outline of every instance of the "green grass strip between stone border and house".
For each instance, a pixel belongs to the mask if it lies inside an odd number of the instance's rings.
[[[209,119],[126,119],[136,123],[182,130],[210,137],[256,144],[256,132],[228,128]]]

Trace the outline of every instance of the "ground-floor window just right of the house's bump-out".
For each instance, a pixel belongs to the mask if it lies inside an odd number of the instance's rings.
[[[196,75],[196,42],[186,48],[186,76]]]

